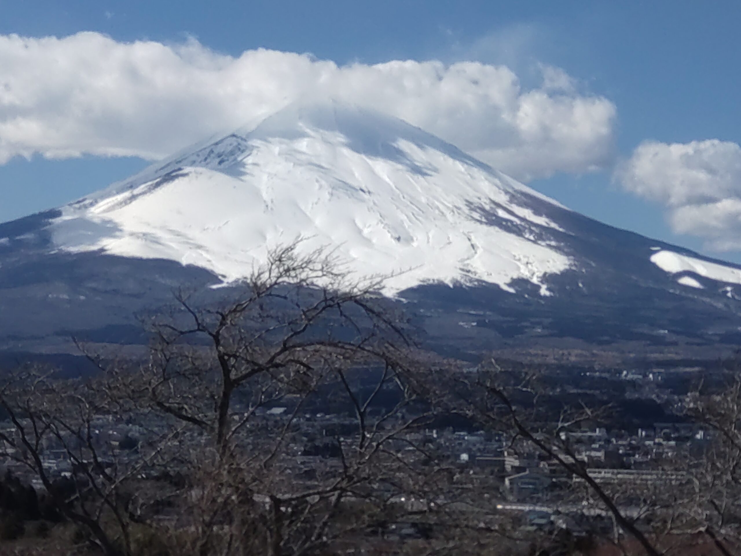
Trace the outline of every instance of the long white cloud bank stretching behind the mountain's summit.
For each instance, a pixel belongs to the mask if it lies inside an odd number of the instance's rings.
[[[0,36],[0,163],[41,153],[157,159],[308,95],[392,113],[519,177],[608,165],[614,105],[557,68],[522,87],[502,65],[349,64],[248,50],[116,42],[99,33]]]

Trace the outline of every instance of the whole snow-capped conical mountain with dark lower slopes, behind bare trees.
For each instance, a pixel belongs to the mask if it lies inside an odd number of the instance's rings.
[[[293,105],[62,208],[0,224],[0,345],[139,342],[133,313],[214,297],[268,248],[336,248],[428,334],[741,340],[741,271],[569,211],[418,128]],[[529,340],[528,340],[529,341]]]

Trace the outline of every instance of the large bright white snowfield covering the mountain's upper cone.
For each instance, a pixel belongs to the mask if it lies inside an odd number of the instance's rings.
[[[560,207],[405,122],[327,102],[179,153],[67,205],[50,229],[64,251],[172,259],[225,282],[302,236],[358,275],[393,274],[387,293],[526,279],[547,295],[543,277],[573,262],[542,240],[561,229],[534,200]]]

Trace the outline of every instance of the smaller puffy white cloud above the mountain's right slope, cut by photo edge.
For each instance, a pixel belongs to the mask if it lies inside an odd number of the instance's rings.
[[[718,139],[645,142],[617,171],[623,187],[661,202],[678,234],[715,251],[741,249],[741,147]]]

